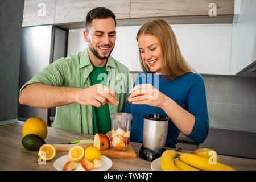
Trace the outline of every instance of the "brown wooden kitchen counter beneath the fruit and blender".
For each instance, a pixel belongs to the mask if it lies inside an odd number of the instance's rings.
[[[55,158],[47,161],[46,164],[39,164],[38,152],[29,151],[21,144],[23,123],[18,122],[0,126],[0,170],[56,170],[53,167],[53,163],[60,156],[67,155],[68,152],[56,152]],[[48,135],[45,141],[53,144],[89,138],[93,138],[93,135],[48,127]],[[131,145],[137,153],[137,158],[111,158],[113,166],[110,170],[150,171],[151,162],[139,158],[138,153],[142,144],[131,142]],[[192,151],[182,150],[181,152]],[[236,170],[256,170],[255,159],[219,155],[219,160],[221,163],[227,164]]]

